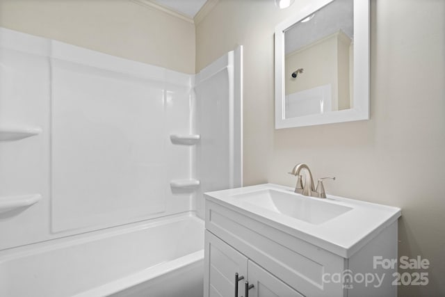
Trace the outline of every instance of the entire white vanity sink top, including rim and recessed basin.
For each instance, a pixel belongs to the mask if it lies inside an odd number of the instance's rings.
[[[204,193],[214,203],[348,258],[401,216],[401,209],[334,195],[307,197],[289,186],[259,184]],[[213,204],[212,204],[213,205]],[[207,206],[211,216],[225,214]]]

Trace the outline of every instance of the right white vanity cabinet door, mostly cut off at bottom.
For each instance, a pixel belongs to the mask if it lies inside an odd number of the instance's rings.
[[[254,262],[249,261],[249,284],[253,284],[248,294],[245,294],[243,286],[243,296],[249,297],[303,297],[298,291],[292,289],[281,280],[275,278],[268,271],[264,270]]]

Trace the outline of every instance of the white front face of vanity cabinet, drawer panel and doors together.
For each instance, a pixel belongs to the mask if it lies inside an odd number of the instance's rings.
[[[343,258],[209,200],[206,211],[204,297],[235,296],[235,273],[244,277],[238,297],[245,281],[254,284],[249,296],[343,296],[342,284],[323,284],[323,271],[342,271]]]

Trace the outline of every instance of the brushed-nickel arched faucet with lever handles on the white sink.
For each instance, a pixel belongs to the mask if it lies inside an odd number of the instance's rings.
[[[309,172],[309,182],[305,179],[305,183],[302,182],[302,175],[300,171],[306,169]],[[305,196],[312,196],[317,198],[326,198],[325,186],[323,186],[323,179],[334,179],[335,177],[322,177],[318,179],[317,187],[314,185],[314,178],[312,177],[312,172],[305,163],[298,163],[293,167],[292,171],[289,172],[291,175],[297,177],[297,184],[295,186],[295,193],[302,194]]]

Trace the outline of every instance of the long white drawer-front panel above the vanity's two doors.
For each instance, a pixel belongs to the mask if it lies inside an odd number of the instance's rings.
[[[346,296],[343,284],[323,282],[346,269],[338,255],[210,200],[206,229],[305,296]]]

